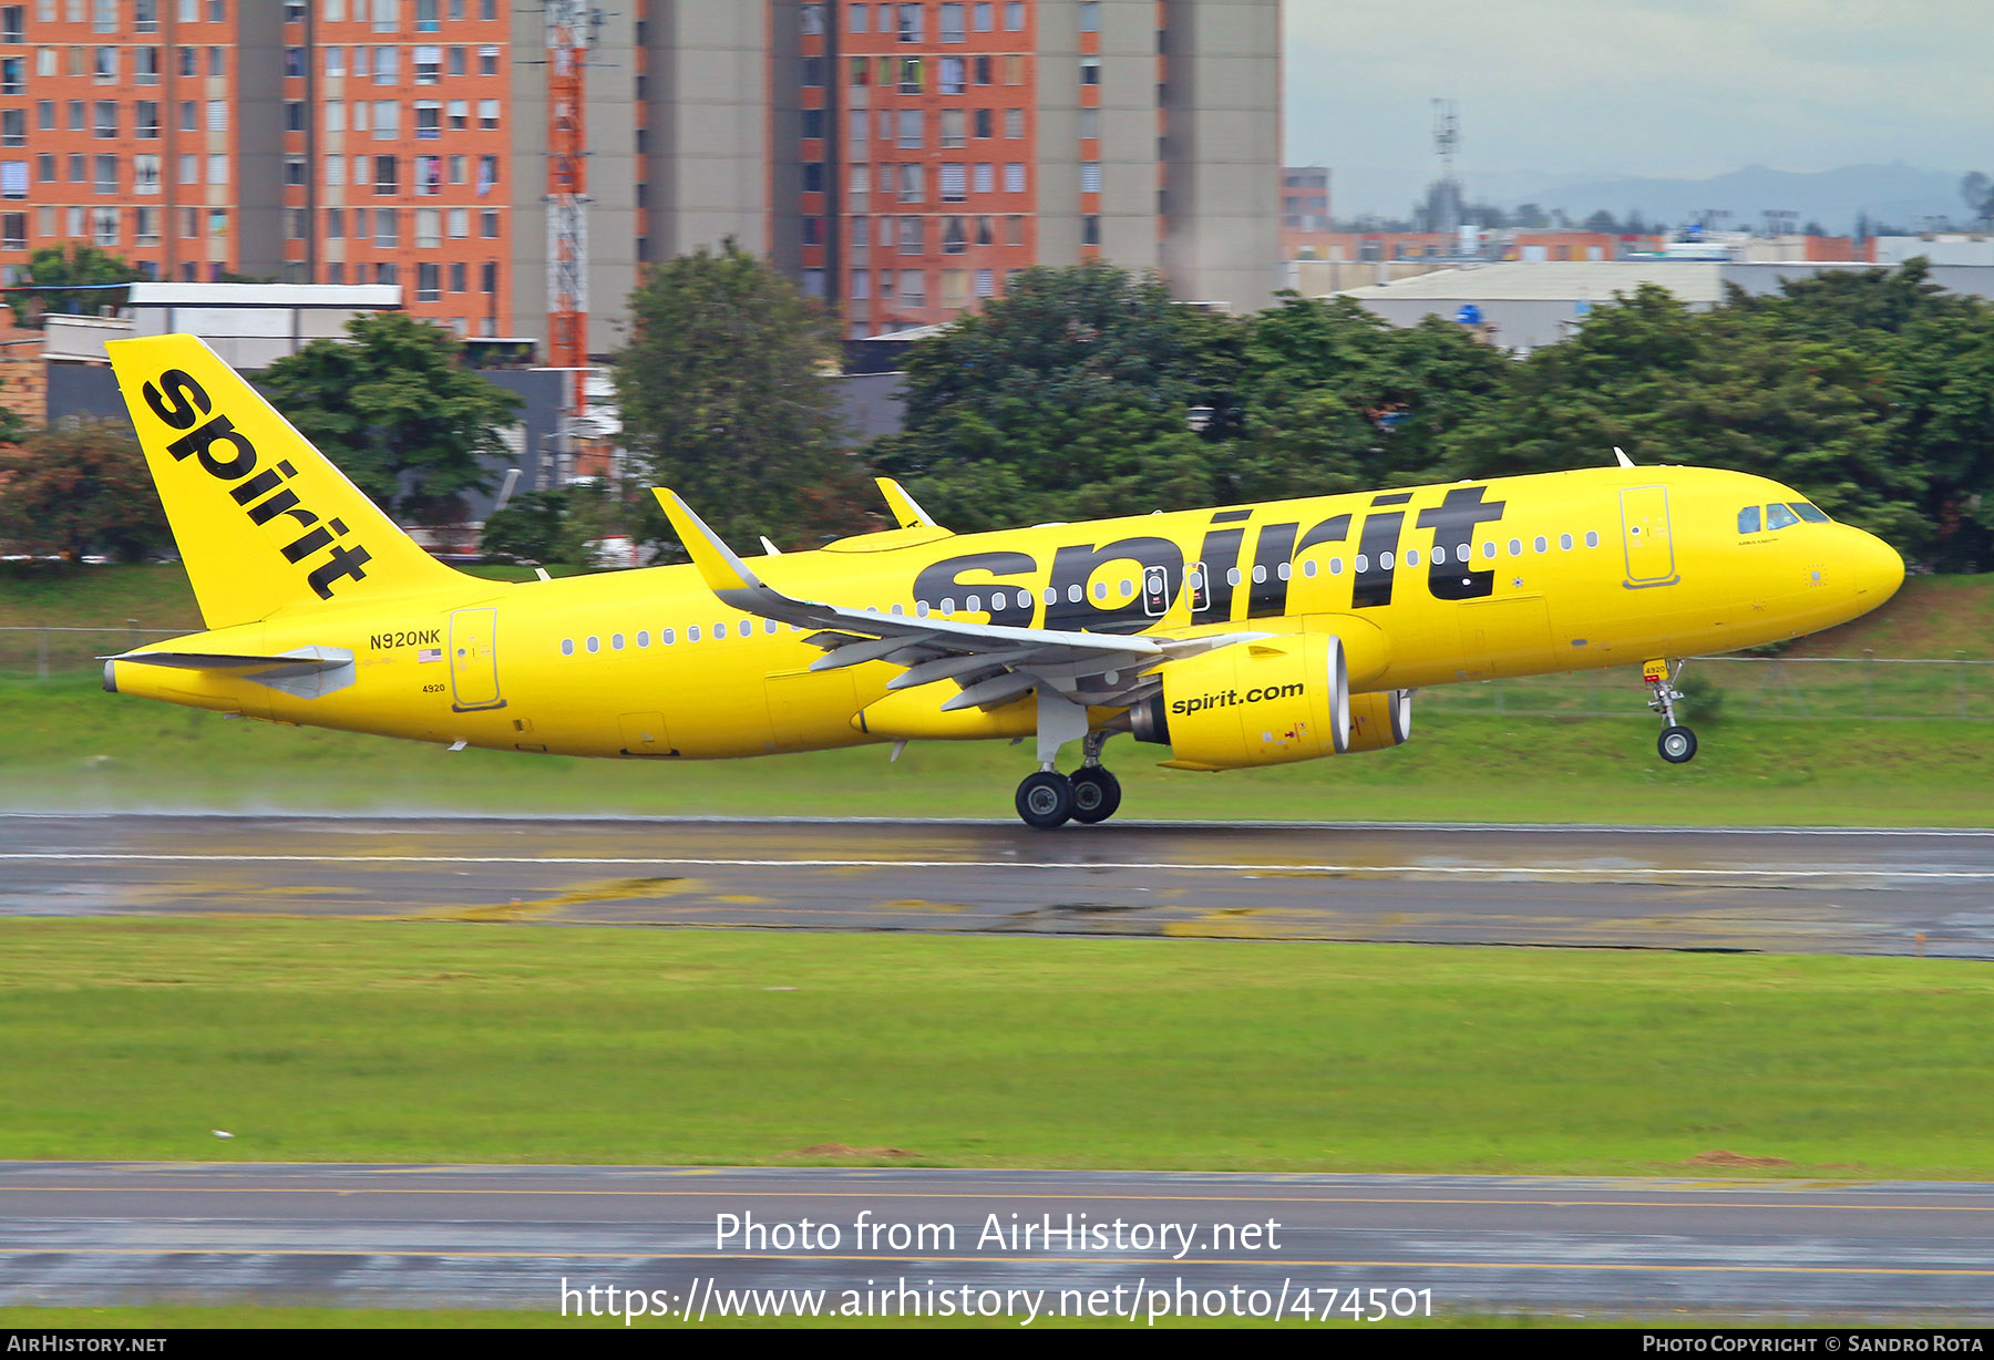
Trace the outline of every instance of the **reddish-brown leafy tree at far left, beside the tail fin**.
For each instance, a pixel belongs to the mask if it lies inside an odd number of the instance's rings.
[[[132,433],[114,421],[54,425],[0,445],[0,538],[72,560],[144,558],[171,542]]]

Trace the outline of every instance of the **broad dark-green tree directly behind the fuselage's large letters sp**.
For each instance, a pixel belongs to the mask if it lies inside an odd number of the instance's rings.
[[[963,530],[1210,505],[1242,339],[1155,275],[1027,269],[909,351],[907,427],[873,455]]]

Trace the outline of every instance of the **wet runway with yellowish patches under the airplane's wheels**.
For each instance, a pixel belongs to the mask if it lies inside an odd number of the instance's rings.
[[[0,915],[1994,957],[1994,832],[0,816]]]

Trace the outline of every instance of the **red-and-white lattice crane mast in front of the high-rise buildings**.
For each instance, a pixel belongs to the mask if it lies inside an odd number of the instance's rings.
[[[588,367],[588,120],[582,72],[600,22],[586,0],[546,8],[546,345],[570,369],[568,417],[582,415]]]

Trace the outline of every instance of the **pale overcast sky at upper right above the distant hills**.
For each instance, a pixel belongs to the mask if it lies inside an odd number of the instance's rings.
[[[1286,164],[1404,211],[1460,102],[1472,199],[1749,164],[1994,173],[1994,0],[1286,0]]]

